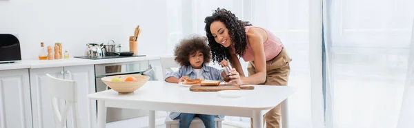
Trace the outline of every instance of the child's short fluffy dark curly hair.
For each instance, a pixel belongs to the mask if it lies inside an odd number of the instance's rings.
[[[188,61],[188,55],[197,52],[197,50],[203,53],[203,63],[210,63],[211,54],[210,47],[207,45],[207,39],[205,36],[197,35],[182,39],[181,42],[175,46],[175,61],[177,61],[177,63],[179,63],[181,66],[188,66],[190,65],[190,61]]]

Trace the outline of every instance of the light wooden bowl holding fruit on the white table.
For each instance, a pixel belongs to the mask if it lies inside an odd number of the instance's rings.
[[[124,81],[128,76],[132,76],[136,81]],[[112,81],[112,78],[119,78],[121,81]],[[142,87],[148,80],[150,79],[149,76],[144,76],[141,74],[130,74],[130,75],[116,75],[116,76],[106,76],[101,78],[101,81],[105,83],[108,87],[115,90],[116,92],[123,94],[123,93],[130,93],[134,92],[135,90]]]

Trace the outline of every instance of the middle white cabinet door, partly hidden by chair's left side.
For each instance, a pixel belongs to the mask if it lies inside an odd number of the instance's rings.
[[[50,67],[30,69],[30,92],[32,98],[32,118],[34,128],[54,128],[52,100],[48,89],[43,87],[43,78],[50,74],[57,78],[63,78],[63,67]]]

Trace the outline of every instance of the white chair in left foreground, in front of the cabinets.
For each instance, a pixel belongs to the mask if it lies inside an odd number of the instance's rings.
[[[66,118],[69,109],[72,109],[72,125],[79,128],[79,117],[77,116],[77,83],[75,81],[63,80],[46,74],[45,87],[49,89],[52,101],[53,117],[55,118],[55,127],[66,128]],[[59,100],[65,100],[63,111],[59,111]]]

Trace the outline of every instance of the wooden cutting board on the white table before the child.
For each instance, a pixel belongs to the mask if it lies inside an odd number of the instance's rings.
[[[255,89],[254,86],[240,86],[240,85],[218,85],[218,86],[201,86],[193,85],[190,91],[193,92],[218,92],[222,90],[239,90],[239,89]]]

